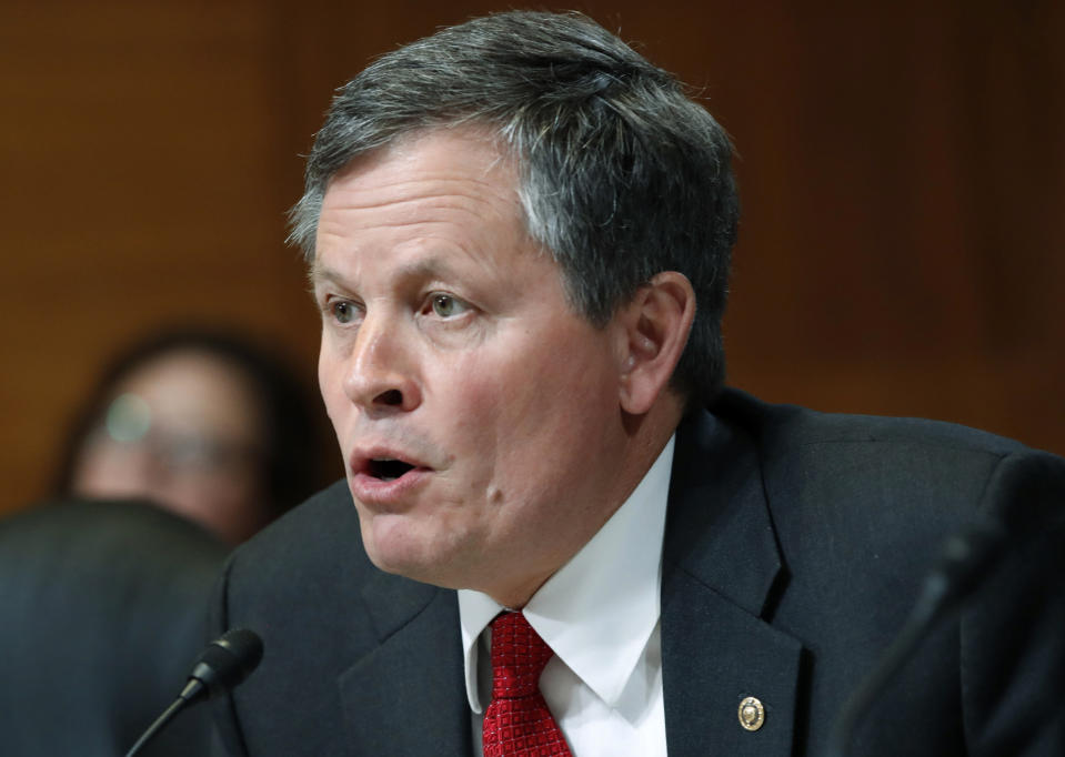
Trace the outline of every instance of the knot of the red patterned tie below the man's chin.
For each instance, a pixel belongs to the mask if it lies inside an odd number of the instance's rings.
[[[492,698],[513,699],[540,693],[540,674],[554,653],[521,613],[492,622]]]

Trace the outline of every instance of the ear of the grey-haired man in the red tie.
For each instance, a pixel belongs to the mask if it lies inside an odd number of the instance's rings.
[[[669,386],[695,319],[695,291],[687,277],[663,271],[642,285],[619,312],[624,343],[620,400],[643,415]]]

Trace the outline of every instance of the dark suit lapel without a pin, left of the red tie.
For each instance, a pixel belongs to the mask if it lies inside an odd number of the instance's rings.
[[[471,754],[455,593],[382,573],[363,594],[381,643],[338,679],[353,754]]]

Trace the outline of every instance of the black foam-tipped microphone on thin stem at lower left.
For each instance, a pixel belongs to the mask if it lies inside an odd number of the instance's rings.
[[[174,715],[189,705],[207,702],[235,688],[259,667],[260,660],[262,639],[248,628],[231,628],[211,642],[197,658],[181,694],[137,739],[125,757],[139,753]]]

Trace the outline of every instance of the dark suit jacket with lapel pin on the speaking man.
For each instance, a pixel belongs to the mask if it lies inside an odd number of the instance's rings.
[[[1065,461],[959,426],[731,391],[687,418],[662,579],[670,754],[820,754],[945,535],[1031,497],[1065,499]],[[1065,754],[1048,706],[1065,675],[1062,546],[1045,531],[1007,559],[902,670],[853,754],[978,755],[1018,728],[1021,754]],[[213,623],[265,643],[217,713],[231,754],[471,754],[455,593],[375,569],[343,483],[237,552]],[[765,706],[757,731],[739,723],[746,696]]]

